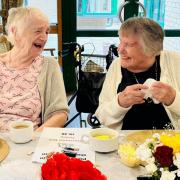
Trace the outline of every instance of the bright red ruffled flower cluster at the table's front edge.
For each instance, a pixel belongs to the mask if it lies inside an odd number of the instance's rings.
[[[52,155],[41,167],[43,180],[107,180],[90,161],[63,153]]]

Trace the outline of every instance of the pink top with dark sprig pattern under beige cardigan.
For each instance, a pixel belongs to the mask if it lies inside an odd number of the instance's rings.
[[[37,78],[43,57],[37,57],[28,68],[9,69],[0,61],[0,132],[19,119],[30,120],[37,128],[41,123],[41,100]]]

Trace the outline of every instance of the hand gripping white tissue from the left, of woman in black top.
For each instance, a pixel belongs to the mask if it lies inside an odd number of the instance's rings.
[[[142,84],[127,86],[124,91],[119,93],[118,103],[121,107],[128,108],[134,104],[144,103],[144,92],[141,89],[148,87]]]

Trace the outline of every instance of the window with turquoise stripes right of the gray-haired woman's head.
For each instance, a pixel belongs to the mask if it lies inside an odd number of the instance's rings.
[[[164,40],[164,49],[179,51],[180,38],[175,38],[179,33],[180,1],[179,0],[144,0],[147,17],[157,21],[165,29],[165,34],[170,32],[170,36]],[[177,35],[176,35],[177,34]]]

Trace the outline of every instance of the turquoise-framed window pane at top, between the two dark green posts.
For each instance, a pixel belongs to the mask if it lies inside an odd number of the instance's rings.
[[[77,0],[77,29],[117,29],[118,0]]]

